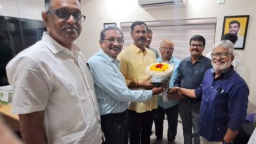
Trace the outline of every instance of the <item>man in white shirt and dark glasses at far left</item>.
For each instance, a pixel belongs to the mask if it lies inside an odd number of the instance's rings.
[[[42,40],[7,65],[24,143],[102,143],[93,78],[79,48],[79,0],[45,1]]]

